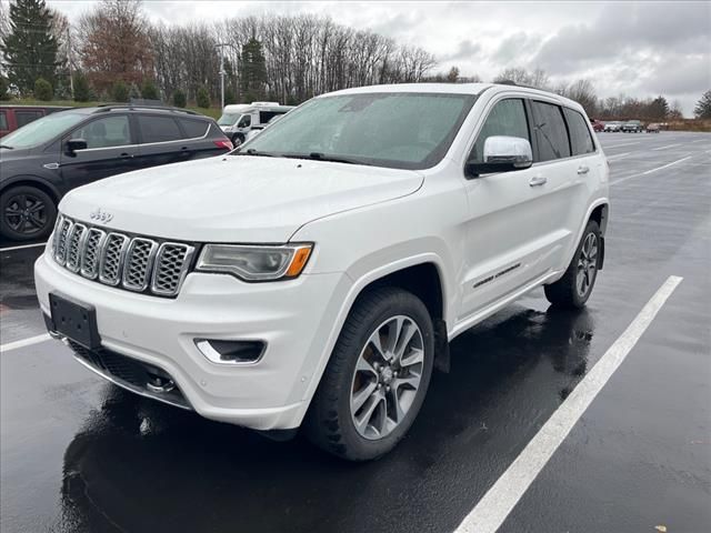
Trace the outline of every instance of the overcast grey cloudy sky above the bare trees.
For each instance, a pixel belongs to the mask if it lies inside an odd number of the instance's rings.
[[[92,0],[49,0],[74,20]],[[508,67],[554,82],[590,78],[598,94],[679,100],[691,115],[711,89],[711,2],[143,2],[152,21],[181,24],[246,14],[318,13],[435,54],[438,70],[490,81]]]

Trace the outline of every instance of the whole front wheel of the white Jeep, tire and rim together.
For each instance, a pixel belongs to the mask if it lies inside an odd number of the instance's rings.
[[[422,406],[433,360],[432,319],[422,301],[397,288],[367,292],[348,315],[331,353],[307,414],[307,436],[349,461],[388,453]]]

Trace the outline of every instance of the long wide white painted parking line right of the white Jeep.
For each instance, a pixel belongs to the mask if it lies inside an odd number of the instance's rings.
[[[543,470],[570,430],[580,420],[598,393],[654,320],[667,299],[683,278],[670,275],[647,302],[632,323],[600,358],[600,361],[578,383],[565,401],[555,410],[543,428],[497,480],[491,489],[467,515],[454,533],[494,533],[533,480]]]

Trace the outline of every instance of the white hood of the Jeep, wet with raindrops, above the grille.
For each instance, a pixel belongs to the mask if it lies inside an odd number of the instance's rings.
[[[108,231],[277,243],[316,219],[411,194],[422,180],[411,170],[227,155],[104,179],[71,191],[60,211]]]

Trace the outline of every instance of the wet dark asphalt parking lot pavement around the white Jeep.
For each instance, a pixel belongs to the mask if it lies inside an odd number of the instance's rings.
[[[0,529],[451,532],[680,275],[500,531],[711,531],[711,134],[600,139],[612,208],[588,308],[557,312],[537,290],[459,336],[451,372],[385,457],[349,464],[139,399],[39,342],[0,355]],[[0,252],[3,344],[44,332],[40,253]]]

